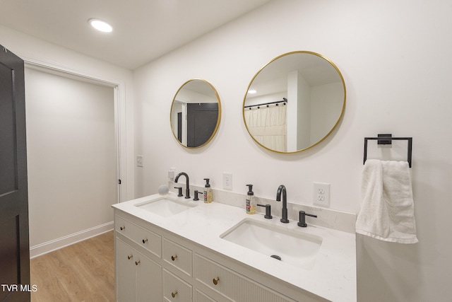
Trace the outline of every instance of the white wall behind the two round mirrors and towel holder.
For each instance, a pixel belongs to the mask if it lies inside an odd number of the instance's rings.
[[[300,204],[311,204],[312,182],[329,182],[331,208],[356,212],[364,137],[413,137],[420,243],[357,236],[358,297],[450,300],[451,6],[446,0],[274,1],[136,70],[135,146],[145,156],[145,167],[136,169],[136,196],[157,192],[175,167],[194,185],[210,178],[215,189],[222,188],[222,172],[232,172],[235,192],[251,182],[257,196],[268,198],[285,184],[289,201]],[[242,102],[256,71],[294,50],[318,52],[338,66],[347,87],[345,115],[318,146],[271,153],[246,132]],[[171,133],[169,110],[179,86],[194,78],[218,90],[222,117],[208,146],[188,150]],[[396,149],[385,150],[388,158]]]

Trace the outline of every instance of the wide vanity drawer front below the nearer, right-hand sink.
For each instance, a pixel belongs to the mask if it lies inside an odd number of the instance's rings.
[[[224,298],[247,302],[295,302],[202,255],[195,254],[194,277]]]

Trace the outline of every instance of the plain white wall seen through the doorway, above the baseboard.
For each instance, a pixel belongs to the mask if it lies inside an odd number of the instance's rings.
[[[113,88],[27,68],[25,99],[30,247],[111,223]]]

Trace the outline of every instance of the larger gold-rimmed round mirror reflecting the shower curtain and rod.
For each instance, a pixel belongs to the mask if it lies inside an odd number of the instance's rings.
[[[304,151],[338,124],[345,108],[345,82],[321,54],[289,52],[258,71],[243,106],[246,129],[259,145],[280,153]]]

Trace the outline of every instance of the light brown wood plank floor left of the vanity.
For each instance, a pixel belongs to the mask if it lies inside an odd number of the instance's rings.
[[[114,301],[113,231],[30,260],[32,302]]]

